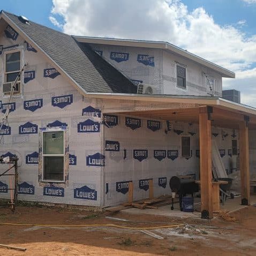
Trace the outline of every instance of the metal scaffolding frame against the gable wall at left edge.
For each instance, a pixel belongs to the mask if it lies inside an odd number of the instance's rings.
[[[15,210],[15,205],[18,200],[18,160],[19,159],[17,156],[0,157],[1,164],[9,164],[9,168],[5,170],[2,174],[0,174],[0,177],[9,176],[9,186],[4,187],[3,192],[7,193],[10,190],[10,201],[8,201],[7,204],[2,204],[1,206],[10,206],[13,212]]]

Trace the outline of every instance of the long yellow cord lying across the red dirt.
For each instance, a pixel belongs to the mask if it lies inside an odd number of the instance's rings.
[[[84,224],[84,225],[52,225],[52,224],[22,224],[22,223],[0,223],[0,225],[13,225],[13,226],[29,226],[29,227],[63,227],[63,228],[90,228],[90,227],[109,227],[109,228],[122,228],[122,229],[166,229],[166,228],[177,228],[184,226],[184,224],[172,224],[172,225],[163,225],[157,227],[126,227],[116,224]]]

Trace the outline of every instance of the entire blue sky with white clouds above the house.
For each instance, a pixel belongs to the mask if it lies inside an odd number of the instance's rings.
[[[256,107],[256,0],[9,0],[1,9],[71,35],[167,41],[236,73]]]

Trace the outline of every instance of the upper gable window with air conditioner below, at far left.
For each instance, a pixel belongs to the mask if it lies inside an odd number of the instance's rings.
[[[21,70],[21,50],[5,52],[4,54],[4,82],[13,82]],[[20,78],[14,92],[20,91]]]

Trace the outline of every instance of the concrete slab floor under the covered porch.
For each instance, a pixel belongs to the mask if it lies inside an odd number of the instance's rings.
[[[240,210],[246,207],[240,204],[241,204],[241,197],[236,197],[234,199],[227,199],[225,201],[224,206],[222,206],[221,204],[220,207],[222,210],[227,210],[228,212],[235,212],[236,210]],[[254,205],[254,204],[256,204],[256,194],[251,195],[251,205]],[[130,209],[122,210],[122,212],[127,214],[162,215],[162,216],[168,216],[168,217],[176,217],[180,219],[185,219],[189,217],[201,218],[200,198],[194,198],[195,212],[193,213],[181,212],[179,210],[179,204],[175,204],[174,208],[175,208],[174,210],[171,210],[171,205],[165,205],[165,206],[159,207],[158,209],[130,208]]]

